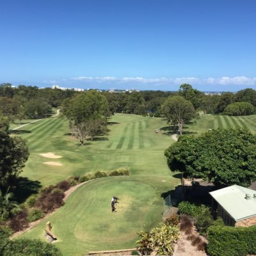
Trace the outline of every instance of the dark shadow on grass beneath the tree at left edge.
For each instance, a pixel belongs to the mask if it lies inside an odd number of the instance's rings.
[[[32,194],[38,193],[42,185],[38,180],[29,180],[27,177],[19,177],[17,180],[17,189],[15,195],[19,204],[22,204]]]

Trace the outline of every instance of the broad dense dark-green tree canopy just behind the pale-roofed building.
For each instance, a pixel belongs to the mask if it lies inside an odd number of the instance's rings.
[[[256,136],[242,129],[217,129],[182,136],[164,152],[168,166],[216,186],[250,186],[256,180]]]

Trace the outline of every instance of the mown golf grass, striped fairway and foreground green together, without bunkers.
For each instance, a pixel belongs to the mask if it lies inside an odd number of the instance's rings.
[[[54,184],[71,175],[127,167],[131,175],[93,180],[77,189],[55,214],[21,237],[44,240],[46,221],[58,236],[63,255],[85,255],[90,250],[136,246],[137,232],[161,222],[163,198],[179,179],[170,175],[164,149],[173,140],[155,129],[166,126],[161,118],[116,114],[109,120],[109,134],[81,146],[69,134],[65,118],[48,118],[20,131],[28,140],[28,163],[22,176]],[[25,127],[24,127],[25,128]],[[40,156],[52,152],[59,159]],[[55,161],[63,166],[51,166]],[[117,212],[111,212],[113,195],[120,197]]]

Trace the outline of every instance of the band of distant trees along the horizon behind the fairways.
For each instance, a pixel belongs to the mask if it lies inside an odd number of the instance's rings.
[[[7,97],[13,99],[13,102],[8,102],[12,109],[10,115],[19,116],[21,115],[33,116],[33,115],[44,115],[47,113],[46,106],[58,107],[61,105],[63,100],[71,98],[79,92],[72,90],[60,90],[43,88],[39,89],[36,86],[24,86],[19,85],[13,88],[12,84],[0,84],[0,97]],[[182,84],[179,92],[162,92],[162,91],[143,91],[143,92],[126,92],[126,93],[110,93],[107,91],[102,92],[102,95],[108,100],[109,111],[111,113],[132,113],[138,115],[150,115],[159,116],[161,115],[161,105],[170,96],[181,96],[185,100],[188,100],[193,104],[195,109],[201,109],[207,113],[218,114],[227,113],[234,115],[227,109],[227,106],[235,102],[247,102],[256,107],[256,91],[250,88],[241,90],[237,93],[225,92],[221,95],[205,95],[205,93],[194,89],[190,84]],[[28,102],[31,104],[28,104]],[[0,100],[3,102],[3,99]],[[38,108],[36,109],[36,106]],[[251,106],[251,107],[252,107]],[[243,106],[242,106],[243,107]],[[1,111],[4,110],[0,109]],[[6,109],[6,108],[5,108]],[[48,108],[49,110],[49,108]],[[247,113],[248,111],[242,111],[241,113]],[[250,111],[250,113],[254,113]],[[238,115],[237,112],[235,115]],[[246,114],[247,115],[247,114]]]

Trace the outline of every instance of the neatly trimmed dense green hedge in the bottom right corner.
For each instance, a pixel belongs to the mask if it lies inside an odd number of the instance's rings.
[[[256,226],[212,226],[207,231],[207,251],[211,256],[256,254]]]

